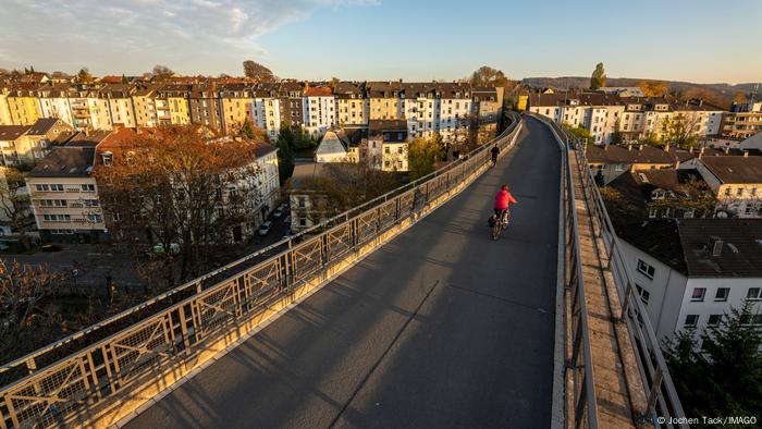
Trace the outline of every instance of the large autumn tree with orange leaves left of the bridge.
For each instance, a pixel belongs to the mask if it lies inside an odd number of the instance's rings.
[[[109,230],[151,292],[206,272],[219,250],[253,231],[259,144],[188,125],[109,148],[110,162],[96,169]]]

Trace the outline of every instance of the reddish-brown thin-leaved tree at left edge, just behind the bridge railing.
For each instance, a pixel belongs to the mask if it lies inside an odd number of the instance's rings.
[[[63,277],[41,266],[0,260],[0,359],[8,361],[54,340],[60,316],[51,307]]]

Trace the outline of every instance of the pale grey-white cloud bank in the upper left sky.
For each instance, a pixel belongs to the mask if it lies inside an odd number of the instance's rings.
[[[0,68],[212,73],[267,56],[257,38],[320,8],[376,0],[0,0]],[[199,68],[199,64],[201,66]],[[221,66],[223,65],[223,66]],[[236,65],[237,66],[237,65]]]

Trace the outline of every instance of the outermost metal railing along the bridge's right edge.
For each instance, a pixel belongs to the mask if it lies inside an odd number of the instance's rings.
[[[661,427],[660,420],[665,421],[667,428],[673,428],[675,425],[680,428],[687,428],[685,421],[685,412],[680,405],[677,391],[669,376],[659,340],[655,335],[651,319],[648,316],[640,296],[635,291],[635,278],[630,270],[625,253],[614,225],[609,217],[603,198],[598,189],[594,174],[589,167],[586,157],[586,142],[569,135],[565,130],[560,127],[552,121],[551,123],[556,133],[562,137],[566,145],[567,160],[566,168],[569,169],[568,152],[575,150],[577,156],[577,167],[582,181],[582,189],[585,195],[577,196],[585,198],[589,203],[589,207],[594,212],[591,212],[591,218],[595,218],[600,225],[599,232],[602,236],[604,245],[609,254],[607,269],[611,270],[616,285],[622,314],[616,315],[620,322],[627,324],[627,331],[630,336],[632,348],[636,353],[636,361],[640,372],[643,387],[646,388],[647,409],[646,414],[638,416],[642,421],[647,421]],[[569,172],[570,173],[570,172]],[[568,175],[570,180],[570,174]],[[570,186],[570,185],[569,185]],[[574,194],[574,193],[572,193]],[[574,195],[572,195],[574,198]],[[672,424],[672,421],[680,421]]]

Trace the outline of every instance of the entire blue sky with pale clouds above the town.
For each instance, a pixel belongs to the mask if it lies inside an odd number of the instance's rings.
[[[0,0],[0,69],[762,82],[762,1]]]

